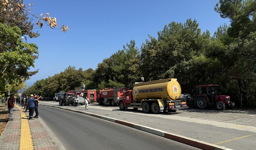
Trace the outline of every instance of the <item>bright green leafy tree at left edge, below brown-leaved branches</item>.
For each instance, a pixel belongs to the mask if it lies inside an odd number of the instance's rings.
[[[6,86],[22,83],[38,71],[30,72],[38,58],[36,44],[22,42],[20,28],[0,24],[0,91]]]

